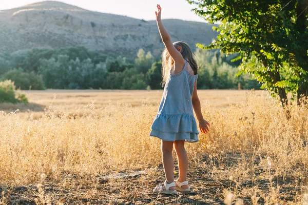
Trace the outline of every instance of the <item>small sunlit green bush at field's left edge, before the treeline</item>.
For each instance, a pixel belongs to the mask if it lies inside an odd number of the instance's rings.
[[[0,82],[0,103],[24,103],[28,99],[23,93],[15,93],[15,85],[11,80]]]

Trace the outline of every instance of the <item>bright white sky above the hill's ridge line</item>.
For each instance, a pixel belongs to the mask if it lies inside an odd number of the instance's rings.
[[[36,2],[41,1],[3,1],[0,4],[0,10],[12,9]],[[185,0],[62,0],[61,2],[91,11],[126,15],[145,20],[155,19],[156,5],[160,4],[162,7],[162,18],[177,18],[204,22],[197,14],[190,11],[196,8],[196,6],[188,4]]]

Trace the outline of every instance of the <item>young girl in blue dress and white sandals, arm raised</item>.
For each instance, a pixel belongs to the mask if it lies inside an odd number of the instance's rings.
[[[151,125],[150,136],[160,138],[162,160],[166,180],[153,192],[175,194],[188,192],[187,168],[188,158],[184,142],[198,141],[198,129],[193,108],[199,121],[201,132],[208,132],[208,122],[203,119],[201,104],[197,94],[197,63],[189,46],[183,42],[171,42],[170,35],[161,20],[161,7],[157,5],[156,20],[160,35],[165,45],[163,51],[162,77],[164,92],[158,113]],[[174,160],[172,147],[175,147],[179,178],[174,180]]]

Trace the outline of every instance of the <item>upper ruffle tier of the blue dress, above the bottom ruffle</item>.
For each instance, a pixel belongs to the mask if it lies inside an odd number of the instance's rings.
[[[157,114],[151,129],[169,133],[190,132],[199,134],[196,119],[194,115],[190,114]]]

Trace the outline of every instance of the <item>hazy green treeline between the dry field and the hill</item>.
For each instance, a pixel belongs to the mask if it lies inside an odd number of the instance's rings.
[[[236,76],[236,63],[218,53],[195,52],[199,89],[259,89],[248,75]],[[0,56],[0,81],[12,80],[22,90],[163,89],[161,58],[140,49],[135,57],[107,55],[85,47],[33,49]]]

